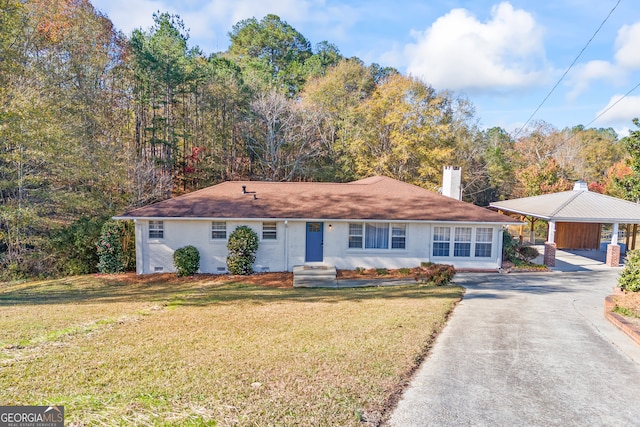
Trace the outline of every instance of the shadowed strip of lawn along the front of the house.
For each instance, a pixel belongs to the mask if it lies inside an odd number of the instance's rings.
[[[460,287],[432,285],[359,288],[276,288],[210,278],[178,279],[175,275],[139,280],[135,276],[82,276],[0,288],[0,306],[39,304],[102,304],[153,302],[167,306],[207,306],[226,303],[294,303],[365,301],[393,298],[460,298]],[[130,279],[130,277],[134,277]]]

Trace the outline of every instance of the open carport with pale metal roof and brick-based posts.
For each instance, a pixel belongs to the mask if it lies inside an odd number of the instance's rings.
[[[611,242],[607,244],[606,264],[620,265],[618,231],[621,224],[632,228],[627,233],[626,247],[635,249],[640,205],[627,200],[589,191],[586,182],[578,181],[573,191],[524,197],[494,202],[490,205],[500,212],[527,219],[531,229],[537,219],[549,223],[544,244],[544,263],[555,265],[556,249],[600,249],[603,224],[612,224]],[[522,231],[520,233],[522,239]],[[631,239],[631,240],[630,240]]]

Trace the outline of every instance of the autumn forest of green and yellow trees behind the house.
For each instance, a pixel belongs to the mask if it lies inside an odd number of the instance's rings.
[[[639,132],[481,129],[464,97],[275,15],[235,24],[218,53],[178,16],[127,36],[87,0],[0,0],[0,28],[0,277],[94,272],[110,216],[225,180],[381,174],[437,191],[457,165],[481,206],[577,179],[638,197]]]

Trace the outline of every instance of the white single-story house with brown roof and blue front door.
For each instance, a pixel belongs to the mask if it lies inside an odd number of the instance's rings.
[[[355,182],[225,182],[116,217],[135,221],[138,274],[172,272],[193,245],[202,273],[226,272],[227,239],[240,225],[260,237],[256,271],[297,265],[416,267],[421,262],[497,269],[506,215],[376,176]]]

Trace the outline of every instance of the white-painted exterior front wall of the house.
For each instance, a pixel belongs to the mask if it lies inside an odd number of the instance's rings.
[[[292,271],[305,263],[306,221],[278,221],[277,239],[262,239],[262,221],[227,221],[227,237],[237,226],[247,225],[259,236],[255,270]],[[173,252],[193,245],[200,252],[200,272],[219,273],[226,269],[227,241],[211,239],[210,220],[164,220],[164,238],[149,239],[148,221],[136,221],[136,262],[138,274],[173,272]],[[329,227],[331,225],[331,227]],[[458,224],[459,225],[459,224]],[[407,223],[406,249],[350,249],[349,223],[324,221],[324,263],[339,269],[416,267],[432,261],[457,268],[496,269],[500,267],[502,230],[494,226],[490,258],[432,257],[433,227],[442,224]],[[447,225],[445,225],[447,226]],[[455,227],[456,224],[449,226]],[[476,225],[470,225],[475,227]],[[486,225],[480,225],[487,227]],[[288,247],[285,248],[285,241]],[[453,242],[452,242],[453,244]]]

